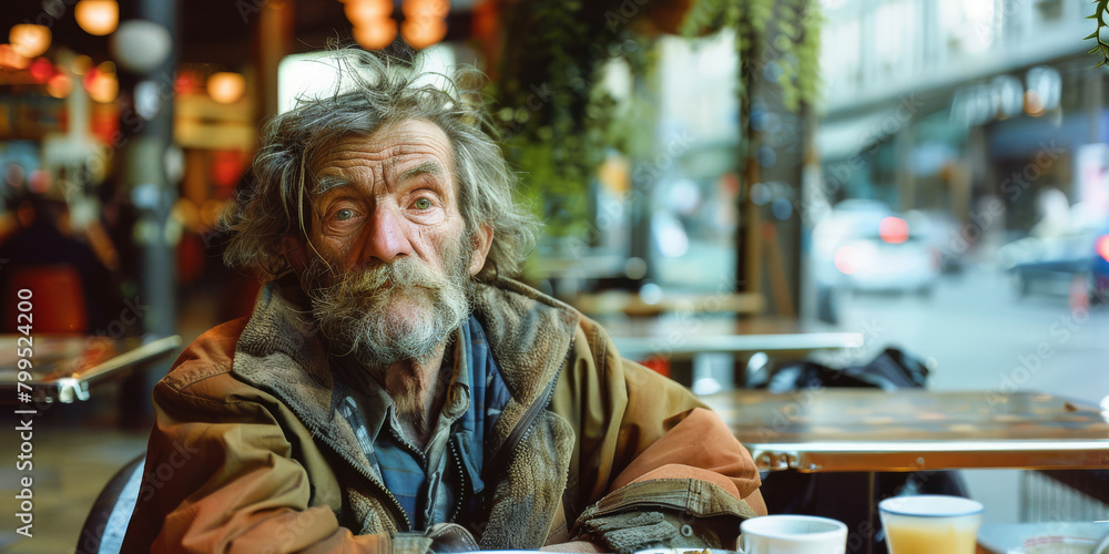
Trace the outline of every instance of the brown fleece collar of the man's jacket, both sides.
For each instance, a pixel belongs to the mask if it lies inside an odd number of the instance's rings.
[[[511,400],[487,440],[494,451],[527,409],[540,400],[569,357],[579,314],[511,279],[474,287],[474,314]],[[235,348],[232,373],[284,402],[342,454],[368,465],[357,438],[336,410],[348,392],[333,378],[299,284],[292,275],[267,283]]]

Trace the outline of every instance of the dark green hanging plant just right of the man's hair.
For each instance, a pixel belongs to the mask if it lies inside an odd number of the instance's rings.
[[[537,0],[506,4],[503,59],[490,83],[506,157],[521,172],[550,235],[588,228],[586,194],[607,148],[628,152],[635,131],[594,86],[612,58],[648,71],[649,45],[615,0]]]

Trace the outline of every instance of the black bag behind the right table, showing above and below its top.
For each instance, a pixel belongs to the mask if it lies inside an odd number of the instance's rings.
[[[790,392],[812,387],[924,388],[927,366],[897,348],[886,348],[871,362],[843,369],[812,361],[791,362],[773,368],[755,388]],[[775,471],[763,475],[762,493],[772,514],[821,515],[847,525],[847,552],[866,552],[866,538],[873,552],[884,552],[877,529],[869,529],[871,510],[877,522],[877,502],[899,494],[950,494],[968,496],[958,471],[875,472],[874,502],[869,505],[871,474],[865,472],[800,473]]]

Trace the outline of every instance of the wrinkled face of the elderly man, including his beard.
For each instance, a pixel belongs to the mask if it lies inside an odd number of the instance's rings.
[[[305,283],[322,330],[372,366],[433,355],[486,252],[465,236],[446,134],[406,121],[340,138],[313,168]]]

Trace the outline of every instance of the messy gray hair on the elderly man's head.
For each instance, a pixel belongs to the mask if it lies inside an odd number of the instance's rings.
[[[369,135],[408,120],[439,126],[450,140],[458,183],[458,209],[470,236],[481,225],[492,228],[492,244],[477,278],[515,276],[535,247],[539,223],[513,199],[517,177],[497,145],[496,129],[480,101],[455,79],[419,74],[405,63],[357,49],[336,52],[340,75],[335,91],[298,99],[274,117],[254,156],[253,187],[241,191],[224,214],[228,232],[224,261],[274,277],[291,265],[282,246],[293,237],[307,240],[312,196],[317,187],[312,160],[336,140]],[[324,62],[321,62],[324,63]]]

